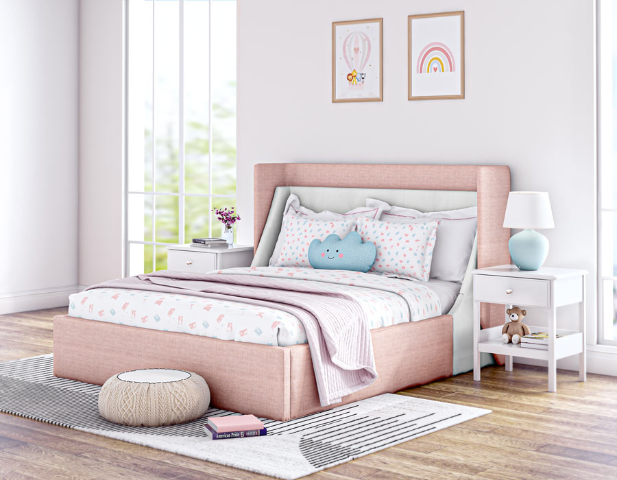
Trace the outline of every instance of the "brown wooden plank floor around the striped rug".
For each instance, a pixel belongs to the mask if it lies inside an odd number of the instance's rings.
[[[51,317],[0,316],[0,361],[51,352]],[[485,368],[401,392],[493,413],[311,475],[314,480],[617,479],[617,379]],[[1,392],[0,392],[1,395]],[[0,479],[268,479],[98,435],[0,413]],[[308,477],[307,477],[308,478]]]

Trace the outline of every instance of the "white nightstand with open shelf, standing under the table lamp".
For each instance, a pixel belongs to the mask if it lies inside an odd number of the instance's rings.
[[[585,270],[542,267],[520,270],[515,265],[498,265],[476,269],[474,275],[474,380],[480,380],[480,353],[506,356],[505,368],[512,370],[512,357],[548,361],[548,391],[557,391],[557,360],[579,355],[579,380],[587,379],[585,359]],[[540,307],[548,312],[548,327],[532,326],[532,332],[548,332],[548,350],[521,348],[520,344],[504,344],[503,325],[480,328],[480,302],[505,304],[506,309]],[[579,303],[579,330],[557,330],[557,307]],[[507,315],[504,311],[504,320]],[[564,335],[558,339],[555,334]]]

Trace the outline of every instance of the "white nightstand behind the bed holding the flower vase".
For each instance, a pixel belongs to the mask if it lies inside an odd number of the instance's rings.
[[[223,268],[250,267],[253,248],[250,245],[225,247],[191,247],[170,245],[167,247],[167,268],[182,272],[206,273]]]

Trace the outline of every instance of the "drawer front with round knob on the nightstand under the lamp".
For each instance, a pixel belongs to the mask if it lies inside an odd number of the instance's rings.
[[[488,303],[549,307],[550,282],[531,278],[474,275],[474,300]]]

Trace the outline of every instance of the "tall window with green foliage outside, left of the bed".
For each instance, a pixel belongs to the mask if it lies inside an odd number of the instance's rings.
[[[236,205],[236,2],[128,0],[126,273]]]

